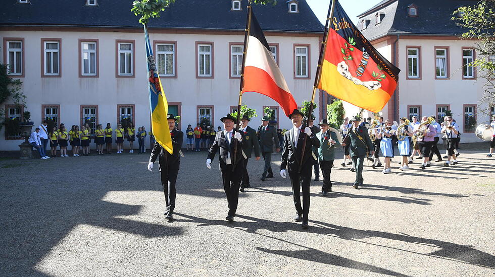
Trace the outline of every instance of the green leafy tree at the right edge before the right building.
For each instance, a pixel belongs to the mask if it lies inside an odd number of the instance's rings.
[[[465,39],[475,40],[476,59],[470,64],[478,68],[478,77],[486,80],[480,105],[495,105],[495,1],[481,0],[476,5],[460,7],[452,20],[468,31]],[[488,113],[489,110],[483,111]]]

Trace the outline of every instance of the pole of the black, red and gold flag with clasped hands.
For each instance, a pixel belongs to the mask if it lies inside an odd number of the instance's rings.
[[[320,83],[321,67],[323,66],[323,57],[325,56],[325,51],[327,48],[328,31],[330,29],[330,23],[331,23],[332,18],[333,18],[333,12],[335,10],[335,3],[337,3],[338,0],[331,0],[331,1],[332,1],[332,4],[328,7],[327,20],[325,23],[325,31],[323,33],[323,40],[321,42],[321,47],[320,47],[320,56],[318,58],[318,67],[316,68],[315,84],[313,85],[313,94],[311,95],[311,103],[310,103],[310,108],[308,110],[306,124],[304,124],[305,126],[308,126],[311,114],[313,113],[313,106],[314,106],[314,101],[315,101],[316,89],[318,89],[318,84]],[[304,142],[303,142],[303,150],[301,151],[301,163],[299,164],[299,173],[301,173],[301,169],[303,167],[304,150],[306,149],[307,140],[308,140],[308,136],[305,135],[304,136]]]

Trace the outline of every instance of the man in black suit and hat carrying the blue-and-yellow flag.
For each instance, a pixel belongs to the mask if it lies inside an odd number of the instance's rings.
[[[152,171],[153,163],[158,159],[158,171],[160,171],[163,194],[165,195],[165,203],[167,204],[164,215],[167,216],[168,220],[173,219],[175,195],[177,193],[175,190],[175,183],[177,181],[180,165],[179,154],[180,148],[182,147],[182,141],[184,140],[184,133],[175,129],[175,120],[173,114],[167,116],[170,136],[172,137],[173,154],[168,153],[158,142],[155,142],[155,146],[151,152],[150,162],[148,163],[148,170]]]

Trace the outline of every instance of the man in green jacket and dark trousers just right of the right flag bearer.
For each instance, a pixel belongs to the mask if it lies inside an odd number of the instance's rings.
[[[337,133],[328,128],[328,121],[326,119],[321,120],[318,125],[321,127],[321,132],[316,134],[316,137],[320,140],[318,160],[323,173],[321,192],[323,196],[327,196],[328,192],[332,192],[330,173],[332,172],[333,160],[335,160],[335,148],[340,146],[340,143],[338,142]]]

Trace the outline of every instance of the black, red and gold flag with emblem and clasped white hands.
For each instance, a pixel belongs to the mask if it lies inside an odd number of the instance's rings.
[[[318,88],[363,109],[379,112],[397,87],[401,70],[371,45],[338,1],[323,58]]]

